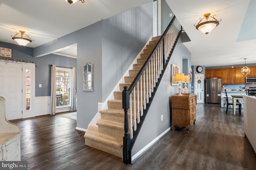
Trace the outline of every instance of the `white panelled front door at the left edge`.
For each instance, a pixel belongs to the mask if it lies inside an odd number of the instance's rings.
[[[0,96],[6,100],[6,119],[21,119],[22,64],[0,61]]]

